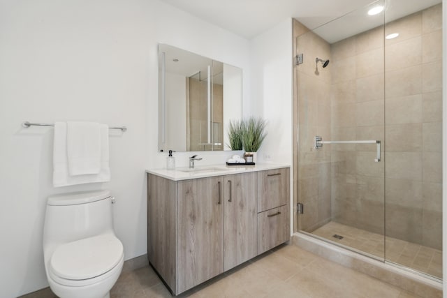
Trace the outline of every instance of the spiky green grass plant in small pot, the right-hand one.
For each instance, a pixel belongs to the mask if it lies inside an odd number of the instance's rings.
[[[256,163],[256,152],[263,143],[267,133],[264,132],[265,119],[260,117],[249,117],[242,121],[241,142],[246,156],[252,156],[252,161]]]

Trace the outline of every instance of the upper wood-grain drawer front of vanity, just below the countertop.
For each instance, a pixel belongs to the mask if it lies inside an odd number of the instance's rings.
[[[258,212],[287,204],[289,193],[288,168],[258,172]]]

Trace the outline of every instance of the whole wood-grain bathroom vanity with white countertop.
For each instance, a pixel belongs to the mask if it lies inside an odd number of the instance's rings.
[[[174,295],[290,239],[284,165],[147,170],[147,256]]]

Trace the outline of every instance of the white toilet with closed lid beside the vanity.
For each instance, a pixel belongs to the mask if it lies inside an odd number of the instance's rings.
[[[54,195],[43,228],[45,271],[61,298],[108,298],[124,263],[110,191]]]

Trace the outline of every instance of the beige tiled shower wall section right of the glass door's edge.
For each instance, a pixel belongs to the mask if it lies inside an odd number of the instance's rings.
[[[386,26],[386,232],[442,248],[442,7]]]

